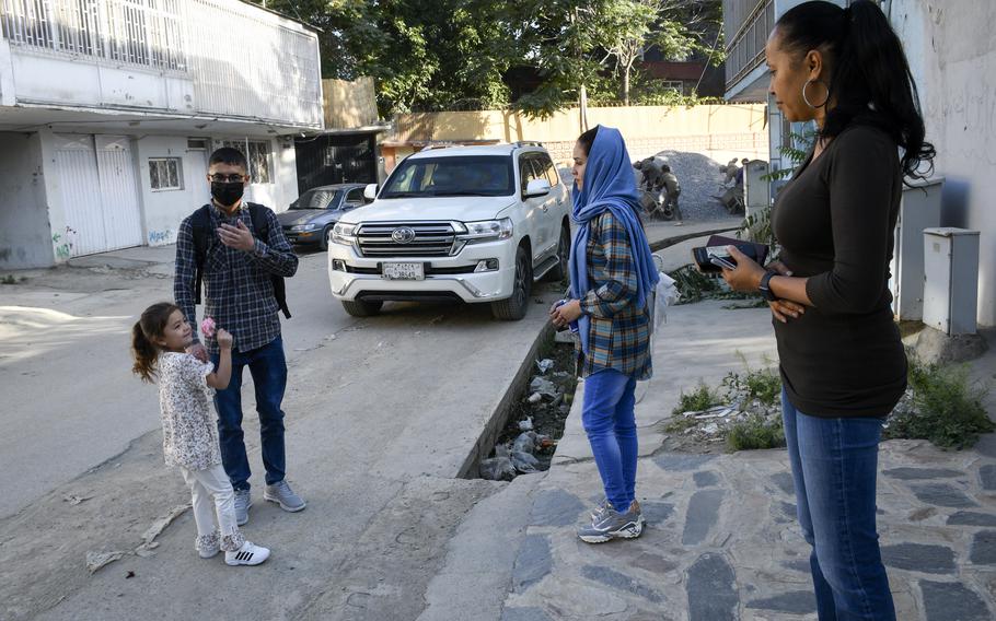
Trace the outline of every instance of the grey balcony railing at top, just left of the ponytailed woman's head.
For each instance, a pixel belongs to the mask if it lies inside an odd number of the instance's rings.
[[[727,91],[764,61],[764,44],[775,27],[774,0],[723,0]]]

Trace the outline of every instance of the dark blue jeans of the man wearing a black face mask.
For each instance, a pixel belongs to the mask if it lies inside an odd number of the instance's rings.
[[[218,364],[218,354],[211,362]],[[235,490],[250,489],[248,458],[242,433],[242,370],[250,367],[256,388],[256,411],[259,412],[259,438],[263,444],[263,466],[266,484],[282,481],[287,467],[283,454],[283,390],[287,387],[287,361],[283,338],[246,352],[232,351],[232,379],[224,390],[215,391],[218,410],[218,436],[221,441],[221,461]]]

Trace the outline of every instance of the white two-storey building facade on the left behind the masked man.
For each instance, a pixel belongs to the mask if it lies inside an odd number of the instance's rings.
[[[297,198],[323,127],[317,36],[240,0],[0,0],[0,268],[175,241],[207,157],[248,200]]]

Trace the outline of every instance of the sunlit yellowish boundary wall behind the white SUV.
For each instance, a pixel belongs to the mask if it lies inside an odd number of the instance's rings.
[[[732,157],[767,160],[768,154],[763,105],[589,108],[588,122],[618,128],[634,160],[669,149],[702,153],[721,163]],[[538,140],[556,161],[570,157],[581,132],[578,108],[548,119],[529,119],[508,110],[410,114],[399,115],[396,124],[398,142]]]

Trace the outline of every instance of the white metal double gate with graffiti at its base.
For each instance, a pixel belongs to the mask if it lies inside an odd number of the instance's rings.
[[[142,245],[130,142],[121,136],[56,136],[56,167],[70,257]],[[59,246],[61,239],[56,239]]]

